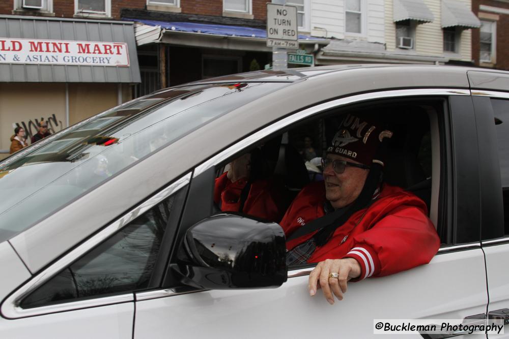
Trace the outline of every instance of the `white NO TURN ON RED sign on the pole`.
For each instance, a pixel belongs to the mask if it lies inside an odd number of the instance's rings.
[[[267,4],[267,46],[299,48],[297,7]]]

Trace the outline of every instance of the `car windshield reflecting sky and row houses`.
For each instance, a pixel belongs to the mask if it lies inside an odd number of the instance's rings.
[[[161,90],[42,139],[0,163],[0,242],[191,130],[284,82]]]

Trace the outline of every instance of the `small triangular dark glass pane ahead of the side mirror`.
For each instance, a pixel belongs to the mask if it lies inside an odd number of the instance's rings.
[[[21,301],[23,308],[147,288],[176,194],[164,199]]]

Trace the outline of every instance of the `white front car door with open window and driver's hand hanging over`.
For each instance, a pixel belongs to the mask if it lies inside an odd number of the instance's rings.
[[[172,281],[170,269],[170,279],[165,284],[168,288],[136,293],[134,338],[147,337],[148,333],[152,338],[168,335],[365,338],[374,335],[376,319],[464,319],[484,315],[488,298],[479,242],[479,168],[465,147],[453,151],[456,145],[465,144],[465,138],[475,139],[468,91],[412,89],[338,99],[302,110],[246,136],[194,169],[177,240],[188,227],[212,213],[215,166],[249,145],[285,131],[297,121],[348,104],[430,96],[437,98],[444,108],[430,114],[434,161],[430,216],[441,225],[443,244],[429,264],[350,283],[345,298],[332,306],[320,291],[314,297],[308,294],[308,274],[314,265],[289,267],[288,281],[281,287],[260,290],[196,290],[175,280],[172,285],[167,283]]]

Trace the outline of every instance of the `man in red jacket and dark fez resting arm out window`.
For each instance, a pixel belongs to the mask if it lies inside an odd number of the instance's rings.
[[[309,294],[322,288],[330,304],[347,281],[427,264],[440,240],[426,204],[381,180],[384,138],[392,132],[348,115],[323,159],[324,182],[305,187],[281,221],[289,265],[318,262]],[[323,217],[323,218],[321,218]]]

